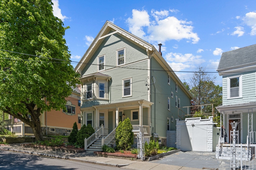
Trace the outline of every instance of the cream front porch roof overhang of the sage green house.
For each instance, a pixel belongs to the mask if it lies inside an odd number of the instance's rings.
[[[96,109],[111,109],[111,108],[123,108],[123,107],[129,107],[129,106],[140,106],[140,104],[142,104],[143,107],[149,108],[154,103],[142,99],[142,100],[124,101],[119,103],[100,104],[100,105],[94,105],[92,107]]]

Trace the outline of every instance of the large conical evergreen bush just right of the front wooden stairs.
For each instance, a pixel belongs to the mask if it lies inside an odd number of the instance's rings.
[[[121,150],[129,150],[133,144],[132,124],[129,118],[120,122],[116,128],[116,146]]]

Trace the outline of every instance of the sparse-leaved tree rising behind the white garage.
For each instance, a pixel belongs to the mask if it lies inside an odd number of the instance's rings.
[[[222,87],[215,85],[215,81],[216,76],[207,73],[205,68],[198,67],[189,80],[183,83],[193,96],[191,106],[213,104],[217,107],[222,103]],[[198,112],[201,112],[201,107],[191,107],[191,114]],[[202,106],[202,112],[211,113],[212,107]],[[215,114],[219,116],[217,109],[215,109]]]

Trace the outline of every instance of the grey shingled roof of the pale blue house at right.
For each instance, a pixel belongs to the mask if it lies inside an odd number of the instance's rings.
[[[222,53],[217,71],[253,62],[256,62],[256,44]]]

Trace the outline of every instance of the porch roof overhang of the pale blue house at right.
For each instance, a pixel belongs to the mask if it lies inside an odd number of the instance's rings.
[[[250,102],[250,103],[242,103],[242,104],[232,104],[227,106],[218,106],[216,109],[220,113],[227,113],[227,111],[250,111],[255,112],[256,111],[256,102]]]

